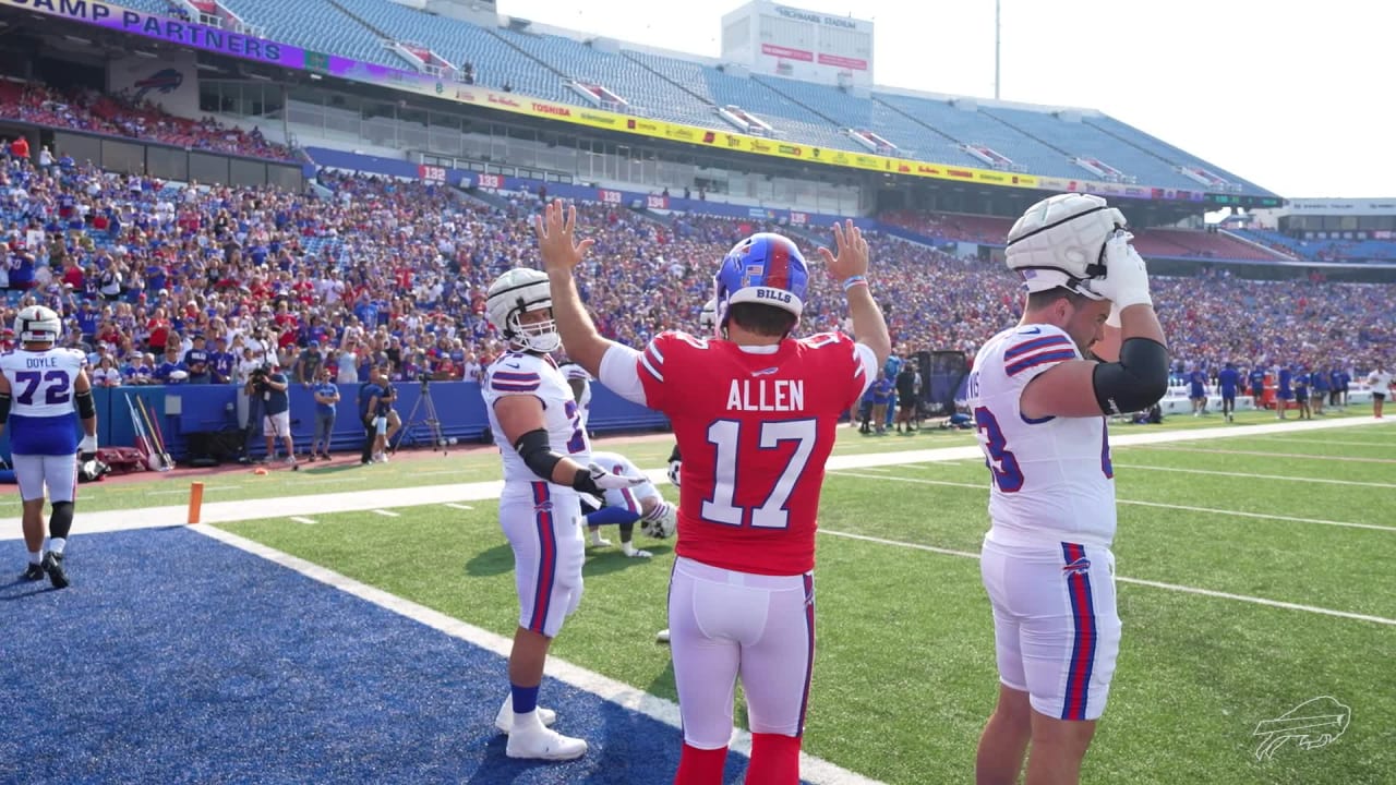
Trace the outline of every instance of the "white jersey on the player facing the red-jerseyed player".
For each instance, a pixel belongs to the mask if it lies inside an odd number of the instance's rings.
[[[504,455],[505,485],[539,479],[504,436],[500,420],[494,416],[494,404],[507,395],[533,395],[542,401],[543,427],[547,429],[553,451],[584,467],[591,461],[592,444],[586,439],[577,402],[572,401],[572,388],[550,358],[524,352],[504,355],[484,370],[480,392],[484,395],[484,408],[489,409],[494,443]]]

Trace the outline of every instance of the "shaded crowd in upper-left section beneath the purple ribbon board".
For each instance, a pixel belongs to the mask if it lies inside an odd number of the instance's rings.
[[[243,131],[222,126],[211,117],[176,117],[149,101],[137,99],[130,91],[60,91],[36,82],[20,85],[0,80],[0,119],[141,138],[190,149],[297,161],[295,151],[262,138],[257,129]]]

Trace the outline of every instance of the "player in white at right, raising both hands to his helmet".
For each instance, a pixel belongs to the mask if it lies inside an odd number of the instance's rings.
[[[1094,196],[1030,207],[1007,250],[1026,291],[1022,321],[990,338],[970,372],[993,475],[980,570],[1000,676],[979,785],[1018,782],[1025,756],[1029,784],[1076,782],[1110,690],[1120,617],[1106,415],[1148,409],[1168,384],[1148,271],[1124,226]]]

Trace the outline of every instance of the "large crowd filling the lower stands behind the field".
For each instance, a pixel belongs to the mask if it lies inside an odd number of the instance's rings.
[[[0,173],[0,318],[11,324],[31,302],[57,309],[101,384],[240,383],[264,362],[307,384],[321,365],[357,383],[381,362],[405,380],[477,377],[503,351],[484,317],[490,281],[536,263],[536,197],[491,205],[445,186],[332,172],[318,184],[320,196],[170,184],[11,156]],[[631,345],[697,330],[718,260],[771,229],[697,215],[664,223],[597,204],[579,212],[596,239],[582,293],[602,331]],[[794,239],[817,260],[812,232]],[[1019,286],[1001,265],[882,236],[872,254],[902,352],[973,356],[1018,316]],[[1173,355],[1205,366],[1367,369],[1396,349],[1393,293],[1226,275],[1154,284]],[[849,327],[842,292],[815,263],[801,330]]]

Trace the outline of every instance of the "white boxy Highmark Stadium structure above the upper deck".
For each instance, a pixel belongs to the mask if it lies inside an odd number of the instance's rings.
[[[752,74],[872,87],[872,22],[754,0],[722,17],[722,59]]]

